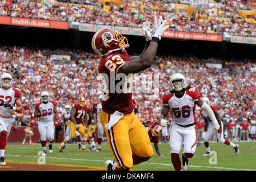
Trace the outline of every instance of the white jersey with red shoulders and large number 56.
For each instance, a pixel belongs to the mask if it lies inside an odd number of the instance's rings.
[[[173,122],[178,125],[186,126],[196,123],[195,101],[201,97],[197,89],[190,88],[185,94],[178,98],[174,93],[167,92],[163,96],[163,105],[169,106],[173,115]]]

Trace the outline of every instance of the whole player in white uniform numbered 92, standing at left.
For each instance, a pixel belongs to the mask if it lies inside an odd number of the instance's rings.
[[[54,116],[53,116],[54,113]],[[46,155],[46,140],[49,140],[49,152],[53,152],[54,142],[54,123],[58,123],[58,111],[56,102],[49,101],[49,93],[41,93],[41,102],[35,104],[34,116],[40,118],[38,123],[38,131],[41,137],[41,145],[43,149],[43,155]]]

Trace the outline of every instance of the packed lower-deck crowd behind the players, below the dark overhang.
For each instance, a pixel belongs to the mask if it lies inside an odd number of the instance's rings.
[[[66,104],[73,105],[79,96],[85,96],[87,105],[98,101],[101,86],[97,81],[99,57],[95,53],[79,49],[70,50],[79,59],[75,61],[57,60],[46,55],[48,49],[29,47],[0,47],[0,70],[11,73],[14,86],[21,89],[23,114],[13,116],[13,124],[37,126],[34,118],[35,103],[40,101],[43,90],[49,92],[51,99],[57,101],[59,120]],[[63,51],[63,50],[59,50]],[[223,68],[213,69],[193,56],[161,55],[156,64],[145,73],[159,75],[159,94],[134,94],[137,116],[147,126],[159,125],[162,109],[162,96],[171,89],[172,73],[183,73],[188,84],[197,88],[202,97],[209,97],[223,118],[223,122],[233,122],[234,129],[242,131],[241,123],[256,119],[256,63],[252,60],[222,60]],[[197,120],[203,121],[197,107]],[[169,114],[170,118],[171,115]],[[250,130],[250,127],[247,128]],[[235,138],[238,133],[235,133]],[[237,138],[238,139],[238,138]]]

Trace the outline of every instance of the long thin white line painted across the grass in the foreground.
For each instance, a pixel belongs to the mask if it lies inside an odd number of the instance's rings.
[[[38,156],[33,155],[6,155],[6,156],[15,156],[15,157],[26,157],[26,158],[38,158]],[[82,161],[93,161],[93,162],[105,162],[106,160],[94,160],[94,159],[74,159],[74,158],[54,158],[49,157],[46,155],[46,158],[50,159],[63,159],[63,160],[82,160]],[[165,164],[165,163],[141,163],[141,164],[156,164],[161,166],[173,166],[172,164]],[[226,167],[214,167],[214,166],[189,166],[189,167],[197,167],[197,168],[215,168],[215,169],[227,169],[227,170],[234,170],[234,171],[256,171],[256,169],[237,169],[237,168],[226,168]]]

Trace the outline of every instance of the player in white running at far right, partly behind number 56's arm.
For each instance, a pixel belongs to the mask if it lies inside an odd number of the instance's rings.
[[[209,101],[208,97],[203,97],[202,99],[203,99],[204,102],[206,102],[206,104],[210,105],[210,101]],[[223,122],[221,121],[221,117],[219,116],[219,113],[217,111],[217,107],[214,104],[211,105],[210,107],[213,110],[214,115],[217,118],[217,121],[218,121],[219,125],[221,126],[218,130],[218,133],[217,133],[218,141],[223,143],[223,144],[227,144],[228,146],[234,147],[235,154],[238,155],[239,154],[239,145],[234,144],[234,143],[230,142],[227,139],[224,139]],[[207,130],[205,132],[203,132],[203,135],[202,135],[203,142],[205,143],[205,148],[206,148],[206,154],[203,154],[203,156],[212,155],[211,151],[210,151],[210,147],[209,147],[209,139],[214,134],[213,123],[211,122],[211,119],[207,116],[205,111],[202,110],[201,114],[202,114],[203,118],[205,119],[205,126],[207,126]]]

